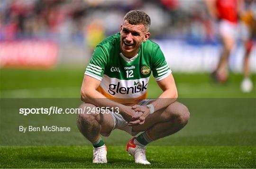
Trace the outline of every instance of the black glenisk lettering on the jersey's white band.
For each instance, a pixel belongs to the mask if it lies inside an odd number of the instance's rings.
[[[134,86],[132,87],[121,87],[120,88],[120,82],[118,82],[118,84],[110,84],[109,85],[109,90],[108,92],[111,94],[111,95],[115,95],[116,93],[120,93],[120,94],[134,94],[134,93],[137,93],[137,92],[141,92],[141,91],[144,91],[146,90],[146,86],[147,86],[148,83],[144,83],[144,81],[142,81],[142,85],[141,84],[138,84],[138,82],[134,82]]]

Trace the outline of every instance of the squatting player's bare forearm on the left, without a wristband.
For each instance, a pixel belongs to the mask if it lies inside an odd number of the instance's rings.
[[[81,100],[85,103],[91,103],[97,107],[119,107],[120,112],[124,109],[124,105],[114,102],[95,89],[87,89],[81,91]]]

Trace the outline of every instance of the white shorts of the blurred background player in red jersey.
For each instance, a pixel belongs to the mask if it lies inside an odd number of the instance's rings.
[[[219,35],[237,39],[238,37],[238,24],[229,22],[228,20],[219,21]]]

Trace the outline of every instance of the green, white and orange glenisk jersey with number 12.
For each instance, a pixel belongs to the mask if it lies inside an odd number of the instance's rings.
[[[171,70],[158,44],[143,42],[137,55],[126,58],[120,50],[120,34],[109,36],[96,46],[84,74],[101,81],[97,89],[122,104],[136,104],[146,98],[151,72],[163,80]]]

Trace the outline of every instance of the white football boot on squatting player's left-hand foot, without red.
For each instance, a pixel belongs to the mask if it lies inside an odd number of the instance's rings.
[[[107,147],[102,145],[101,147],[93,147],[93,163],[107,163]]]

